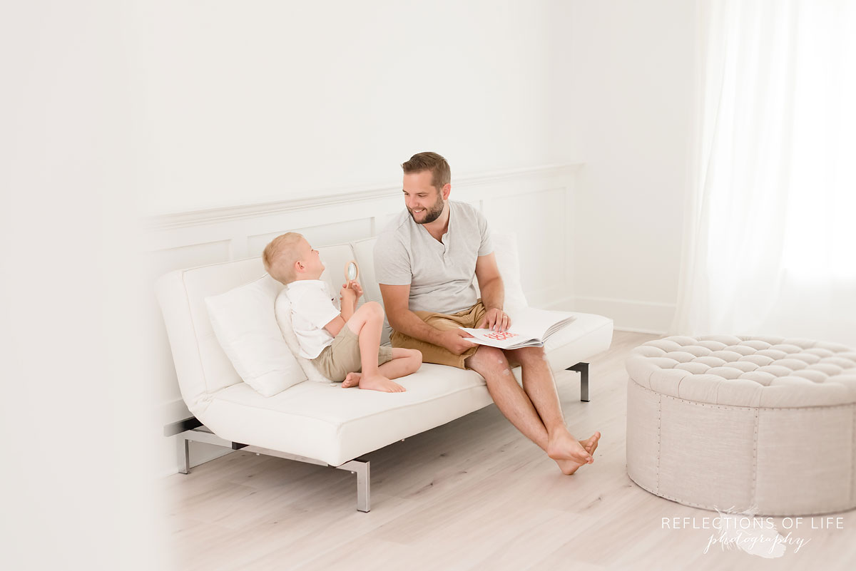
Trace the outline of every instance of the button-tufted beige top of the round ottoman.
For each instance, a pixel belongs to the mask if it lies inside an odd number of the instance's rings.
[[[627,373],[699,403],[799,408],[856,403],[856,350],[801,338],[668,337],[633,349]]]

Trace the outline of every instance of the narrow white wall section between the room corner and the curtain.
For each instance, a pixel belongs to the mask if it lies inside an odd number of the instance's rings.
[[[570,9],[574,308],[664,332],[675,311],[693,101],[695,4],[574,0]]]

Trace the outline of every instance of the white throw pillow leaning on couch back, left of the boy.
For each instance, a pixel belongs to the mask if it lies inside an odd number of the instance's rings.
[[[211,327],[241,379],[265,397],[306,380],[276,325],[282,284],[265,274],[244,286],[205,297]]]

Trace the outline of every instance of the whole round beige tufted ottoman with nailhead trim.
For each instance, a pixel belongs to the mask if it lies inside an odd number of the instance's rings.
[[[627,373],[627,474],[648,492],[754,515],[856,507],[856,350],[669,337]]]

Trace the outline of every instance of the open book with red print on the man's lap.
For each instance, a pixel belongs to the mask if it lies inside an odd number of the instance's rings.
[[[565,311],[526,308],[515,311],[511,316],[511,327],[499,333],[490,329],[470,329],[461,327],[472,335],[473,343],[490,345],[500,349],[520,349],[520,347],[543,347],[544,341],[562,327],[573,322],[576,317]]]

